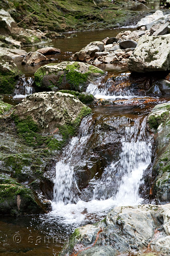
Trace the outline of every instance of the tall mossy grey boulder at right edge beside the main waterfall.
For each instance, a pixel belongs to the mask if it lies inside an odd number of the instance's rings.
[[[156,177],[152,194],[158,203],[170,202],[170,103],[156,105],[148,116],[155,133],[153,175]]]

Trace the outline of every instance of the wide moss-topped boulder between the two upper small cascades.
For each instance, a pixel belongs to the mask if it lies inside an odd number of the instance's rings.
[[[106,72],[83,62],[64,61],[40,67],[35,72],[35,84],[45,90],[85,91],[90,82]]]

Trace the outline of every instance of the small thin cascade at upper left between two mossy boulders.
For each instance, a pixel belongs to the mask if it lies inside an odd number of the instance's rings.
[[[33,88],[34,79],[33,77],[20,77],[16,89],[14,91],[15,98],[24,98],[30,94],[35,93],[35,89]]]

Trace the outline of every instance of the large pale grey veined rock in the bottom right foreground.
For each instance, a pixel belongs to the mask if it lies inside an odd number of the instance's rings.
[[[146,252],[150,246],[156,255],[168,256],[169,218],[170,204],[115,207],[103,221],[75,229],[60,255],[154,256]]]

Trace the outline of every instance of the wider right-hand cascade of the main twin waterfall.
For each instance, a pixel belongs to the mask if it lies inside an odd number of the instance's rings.
[[[146,133],[146,118],[141,124],[137,118],[133,126],[126,126],[121,143],[119,160],[105,168],[94,187],[93,198],[105,200],[112,197],[116,205],[133,205],[140,202],[139,186],[143,172],[151,162],[152,143]]]

